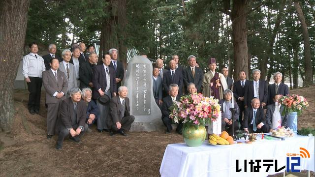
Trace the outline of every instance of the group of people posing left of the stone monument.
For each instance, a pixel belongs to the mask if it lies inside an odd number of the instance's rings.
[[[56,54],[56,45],[48,46],[49,54],[39,56],[38,45],[29,45],[30,54],[23,58],[23,75],[30,92],[28,109],[38,114],[40,93],[46,90],[47,139],[58,133],[57,149],[63,140],[79,143],[89,126],[97,123],[98,132],[107,131],[111,136],[119,133],[128,136],[134,117],[130,115],[128,89],[121,86],[124,78],[123,64],[117,60],[117,50],[110,49],[96,65],[98,56],[94,47],[84,54],[84,43],[65,49],[62,57]],[[71,52],[72,51],[72,52]]]

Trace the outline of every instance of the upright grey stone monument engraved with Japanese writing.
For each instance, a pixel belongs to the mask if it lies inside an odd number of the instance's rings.
[[[164,129],[162,113],[153,95],[152,71],[152,62],[145,57],[135,56],[128,62],[124,85],[128,88],[130,115],[135,117],[130,131]]]

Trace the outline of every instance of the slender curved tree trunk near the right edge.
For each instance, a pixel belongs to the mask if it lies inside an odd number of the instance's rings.
[[[310,47],[310,36],[307,30],[304,14],[300,3],[298,1],[294,1],[294,7],[297,12],[297,16],[301,22],[301,28],[303,33],[304,40],[304,71],[305,71],[305,79],[303,82],[304,87],[309,87],[313,83],[313,68],[311,62],[311,47]]]

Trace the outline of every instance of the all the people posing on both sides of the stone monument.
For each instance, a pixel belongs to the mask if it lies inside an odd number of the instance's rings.
[[[55,44],[48,46],[49,54],[39,56],[36,43],[29,45],[30,54],[23,58],[23,75],[30,92],[28,108],[31,114],[39,113],[40,92],[43,84],[46,90],[47,138],[58,133],[57,149],[70,134],[70,140],[80,142],[83,132],[92,131],[89,126],[96,122],[98,132],[109,132],[127,136],[134,116],[130,115],[128,89],[122,86],[125,69],[118,58],[117,49],[110,49],[97,65],[98,55],[93,45],[85,53],[84,43],[71,45],[62,56],[56,54]],[[220,99],[222,111],[222,130],[231,131],[232,121],[235,129],[242,127],[247,132],[269,132],[273,128],[273,112],[283,109],[278,102],[280,95],[288,94],[288,87],[281,83],[282,74],[274,74],[275,84],[268,86],[260,80],[260,71],[252,71],[253,81],[246,80],[246,73],[239,72],[239,81],[233,83],[228,77],[228,69],[216,72],[215,58],[209,59],[210,71],[205,73],[196,65],[196,57],[187,59],[188,67],[179,64],[179,57],[172,56],[164,68],[162,59],[153,65],[153,95],[161,109],[165,133],[172,130],[169,118],[170,107],[184,94],[203,93]],[[232,91],[233,90],[233,91]],[[231,100],[234,97],[234,105]],[[268,106],[267,106],[268,105]],[[277,105],[277,107],[276,107]],[[267,114],[263,108],[267,106]],[[230,108],[237,108],[232,115]],[[244,118],[243,118],[244,112]],[[279,124],[279,123],[278,123]],[[280,125],[286,126],[282,117]],[[182,133],[182,123],[176,128]]]

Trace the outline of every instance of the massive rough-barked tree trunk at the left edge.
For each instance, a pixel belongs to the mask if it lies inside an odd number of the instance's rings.
[[[29,5],[30,0],[0,1],[0,129],[2,131],[10,131],[13,122],[13,87],[24,48]]]

